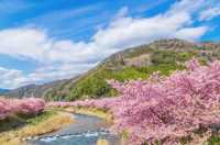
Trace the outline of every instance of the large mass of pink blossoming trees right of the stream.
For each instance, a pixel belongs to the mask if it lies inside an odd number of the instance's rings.
[[[200,66],[197,59],[169,77],[109,81],[121,96],[101,100],[53,102],[56,107],[96,107],[109,110],[117,131],[129,132],[129,144],[178,144],[195,130],[220,123],[220,62]]]

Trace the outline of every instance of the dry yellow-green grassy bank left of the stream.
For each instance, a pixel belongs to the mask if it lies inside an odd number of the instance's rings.
[[[8,126],[8,131],[4,127],[3,132],[0,133],[1,145],[23,145],[25,144],[23,138],[51,133],[74,122],[69,113],[54,111],[45,111],[34,118],[16,118],[20,119],[14,120],[20,120],[23,124],[15,129],[10,126],[10,122],[0,123],[1,126]]]

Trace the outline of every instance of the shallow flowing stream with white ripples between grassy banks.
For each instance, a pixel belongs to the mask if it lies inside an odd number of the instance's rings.
[[[96,145],[98,140],[107,140],[109,145],[118,145],[119,136],[109,132],[109,124],[97,116],[73,114],[76,122],[54,133],[31,138],[30,145]]]

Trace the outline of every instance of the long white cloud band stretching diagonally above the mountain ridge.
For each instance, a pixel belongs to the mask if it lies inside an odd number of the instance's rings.
[[[191,1],[175,3],[167,12],[152,18],[125,16],[123,8],[109,26],[99,29],[90,42],[54,40],[44,30],[16,27],[0,31],[0,54],[19,59],[34,59],[43,64],[31,74],[21,70],[0,72],[6,77],[0,87],[14,88],[31,82],[68,78],[88,70],[99,60],[118,51],[150,43],[158,38],[185,38],[196,41],[202,36],[208,26],[194,26],[193,13],[200,9],[202,0],[194,7]],[[12,80],[10,74],[15,75]]]

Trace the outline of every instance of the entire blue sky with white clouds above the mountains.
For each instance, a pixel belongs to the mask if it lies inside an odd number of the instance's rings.
[[[158,38],[220,40],[219,0],[0,0],[0,88],[69,78]]]

